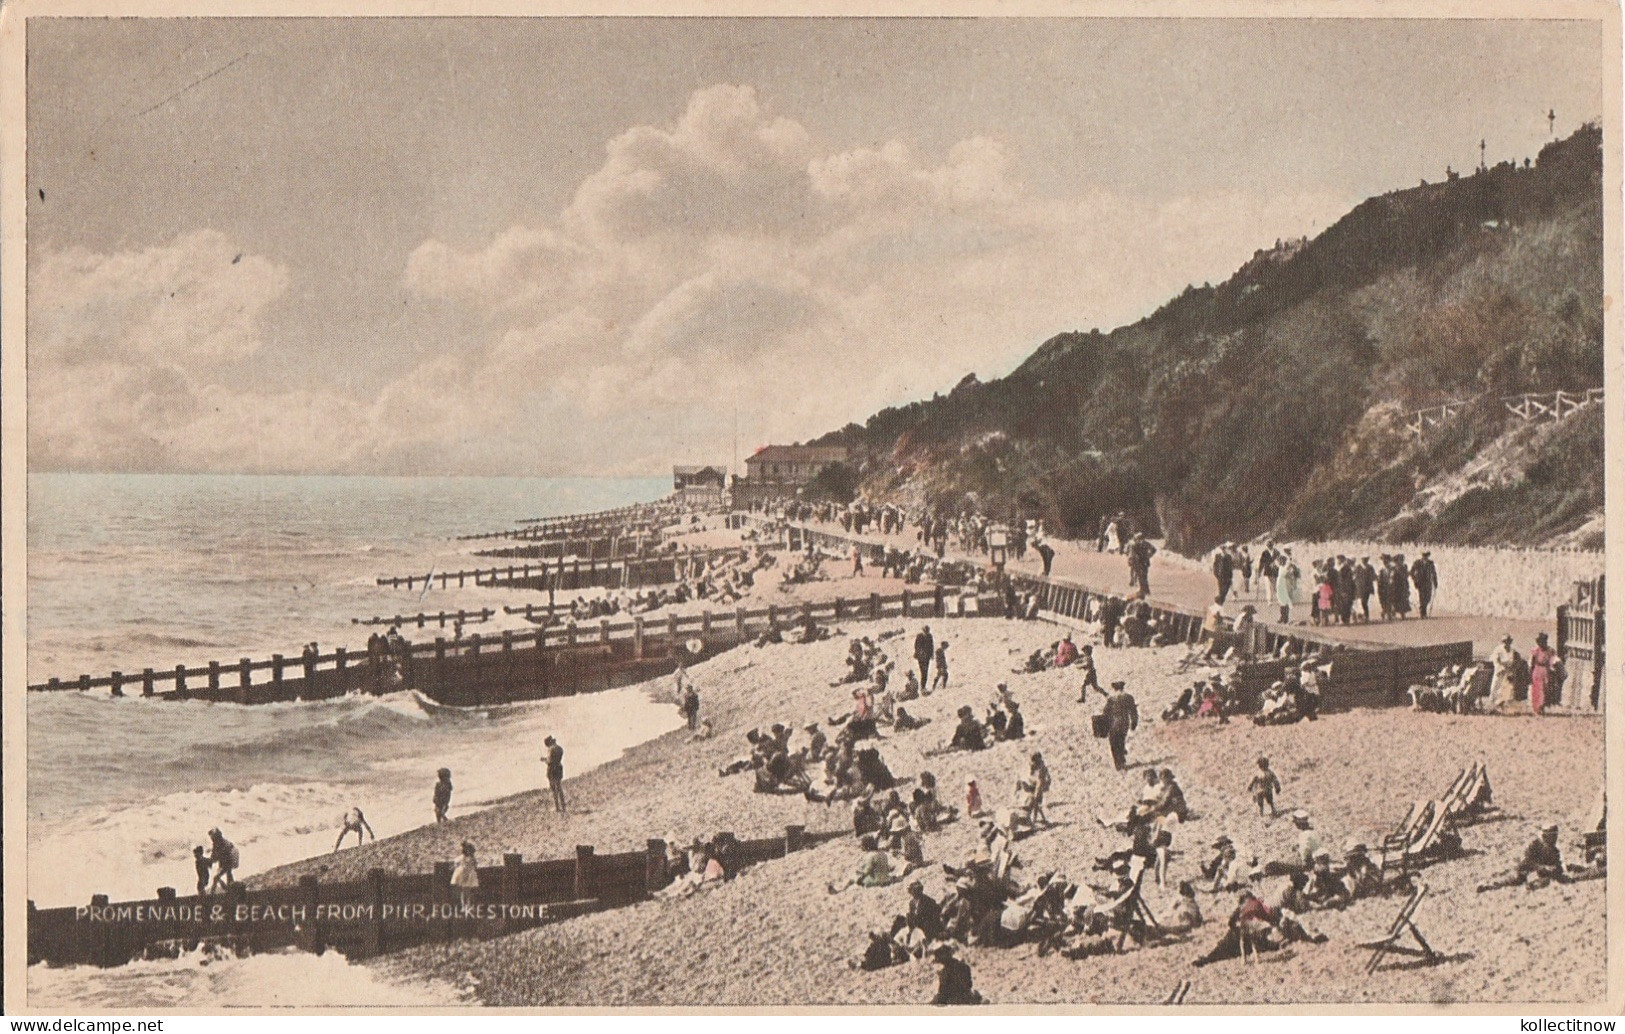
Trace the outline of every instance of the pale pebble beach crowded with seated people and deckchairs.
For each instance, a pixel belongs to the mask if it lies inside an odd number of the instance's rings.
[[[453,858],[465,839],[476,844],[483,863],[496,863],[504,852],[562,858],[578,844],[619,852],[642,849],[648,837],[687,842],[718,831],[764,837],[782,834],[788,824],[812,832],[850,831],[847,805],[759,795],[749,776],[718,777],[717,771],[746,753],[744,733],[751,728],[774,722],[800,728],[842,714],[848,688],[829,683],[843,670],[852,636],[889,634],[882,645],[902,668],[920,624],[842,623],[826,642],[746,645],[691,668],[715,736],[696,741],[686,730],[666,733],[567,779],[567,816],[551,811],[541,789],[444,826],[281,867],[252,883],[286,883],[306,873],[346,880],[374,867],[427,871]],[[1097,647],[1102,680],[1124,680],[1147,719],[1129,740],[1131,769],[1116,772],[1103,741],[1089,735],[1098,696],[1079,704],[1077,680],[1066,670],[1012,673],[1027,654],[1050,645],[1064,629],[1004,619],[931,624],[938,639],[952,644],[951,684],[910,704],[910,712],[930,723],[908,733],[887,732],[881,754],[899,777],[934,772],[947,802],[962,803],[965,780],[977,779],[988,803],[1001,806],[1025,774],[1032,751],[1042,751],[1055,779],[1045,806],[1055,824],[1017,844],[1017,871],[1027,883],[1051,870],[1074,881],[1098,881],[1100,873],[1090,871],[1094,858],[1121,842],[1098,816],[1120,816],[1128,808],[1144,764],[1172,767],[1196,813],[1176,836],[1168,888],[1147,891],[1154,912],[1168,904],[1178,880],[1196,875],[1202,854],[1220,834],[1261,858],[1292,847],[1290,823],[1261,818],[1246,795],[1259,754],[1269,756],[1280,776],[1282,806],[1310,811],[1328,844],[1380,841],[1410,802],[1443,793],[1474,761],[1488,766],[1498,805],[1487,821],[1462,829],[1464,857],[1422,871],[1430,893],[1417,923],[1446,956],[1438,966],[1394,961],[1365,975],[1368,951],[1357,943],[1386,932],[1404,901],[1393,896],[1313,912],[1313,925],[1329,938],[1324,945],[1295,945],[1256,964],[1193,969],[1191,961],[1219,938],[1233,906],[1230,894],[1204,894],[1207,925],[1183,941],[1082,961],[1040,958],[1032,946],[962,949],[977,988],[991,1003],[1155,1005],[1181,980],[1193,982],[1188,1005],[1602,997],[1604,881],[1474,893],[1477,883],[1516,860],[1539,823],[1560,823],[1565,855],[1580,860],[1576,823],[1594,806],[1604,777],[1599,717],[1378,709],[1284,727],[1246,720],[1224,727],[1204,720],[1164,723],[1155,715],[1201,676],[1176,671],[1185,649]],[[982,710],[999,681],[1008,681],[1022,704],[1027,738],[972,754],[928,756],[947,740],[957,707]],[[644,689],[655,699],[674,697],[671,678]],[[536,758],[514,758],[514,764],[535,767],[536,785],[544,787]],[[920,878],[930,894],[944,894],[941,863],[964,862],[975,844],[975,824],[965,819],[926,837],[928,865]],[[838,837],[751,867],[687,899],[647,901],[486,941],[427,945],[369,964],[388,980],[436,980],[494,1006],[921,1005],[934,988],[928,962],[879,972],[848,966],[868,932],[889,925],[905,902],[904,883],[830,896],[826,884],[847,876],[856,858],[852,837]]]

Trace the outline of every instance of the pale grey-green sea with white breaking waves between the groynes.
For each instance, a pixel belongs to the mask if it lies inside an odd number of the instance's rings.
[[[231,665],[307,642],[364,650],[380,631],[356,618],[491,608],[465,632],[531,628],[504,589],[416,590],[380,576],[491,566],[458,535],[647,502],[663,478],[364,478],[36,473],[28,478],[28,681]],[[450,636],[405,626],[408,639]],[[379,836],[432,821],[436,769],[450,767],[452,816],[541,782],[541,738],[570,771],[614,759],[676,728],[647,689],[484,710],[388,696],[239,706],[29,693],[28,897],[39,907],[182,894],[193,845],[219,826],[239,876],[330,852],[359,806]],[[354,841],[351,841],[353,844]],[[94,1006],[260,1005],[266,988],[323,988],[310,1005],[455,1003],[455,988],[385,988],[336,958],[184,956],[120,971],[31,967],[31,1000]],[[336,974],[336,975],[335,975]],[[36,995],[37,992],[37,995]],[[284,992],[291,993],[291,992]],[[353,993],[354,1001],[341,1001]],[[332,998],[332,1000],[330,1000]],[[387,1001],[385,1001],[387,998]]]

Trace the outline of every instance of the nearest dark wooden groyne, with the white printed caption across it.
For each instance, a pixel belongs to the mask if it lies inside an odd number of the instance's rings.
[[[730,875],[837,836],[845,834],[786,826],[783,836],[733,841]],[[450,880],[452,863],[444,862],[432,873],[375,868],[364,880],[302,876],[296,884],[252,891],[239,883],[211,896],[158,888],[145,901],[110,902],[98,894],[86,906],[58,909],[37,909],[31,901],[28,962],[122,966],[203,943],[240,953],[335,948],[356,959],[427,941],[499,936],[650,897],[666,884],[666,842],[652,839],[642,850],[614,854],[582,845],[574,858],[543,862],[509,854],[502,865],[479,867],[468,907],[453,897]]]

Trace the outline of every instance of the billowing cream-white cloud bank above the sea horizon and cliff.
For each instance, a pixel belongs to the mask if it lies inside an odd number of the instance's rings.
[[[401,283],[483,337],[367,398],[262,398],[240,361],[289,273],[219,234],[44,260],[36,465],[653,473],[804,439],[999,374],[1217,280],[1346,200],[1032,193],[972,137],[824,145],[749,86],[629,128],[570,203],[479,245],[424,241]]]

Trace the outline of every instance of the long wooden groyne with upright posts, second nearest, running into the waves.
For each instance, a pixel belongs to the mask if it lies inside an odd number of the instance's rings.
[[[203,667],[143,668],[127,675],[76,680],[52,678],[29,691],[107,689],[112,696],[171,701],[271,704],[320,701],[351,693],[418,689],[440,704],[489,707],[514,701],[572,696],[627,686],[673,671],[678,662],[713,657],[769,629],[798,624],[879,621],[886,618],[944,618],[1001,613],[994,598],[967,602],[941,587],[892,595],[871,593],[791,606],[736,608],[699,615],[635,616],[611,623],[564,624],[535,631],[504,631],[462,641],[401,642],[393,650],[346,650],[296,658]]]

